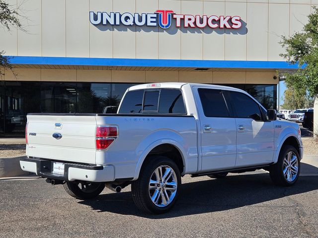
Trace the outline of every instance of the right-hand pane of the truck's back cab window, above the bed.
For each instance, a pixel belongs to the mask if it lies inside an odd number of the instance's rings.
[[[160,114],[185,114],[185,107],[181,90],[161,89],[159,100]]]

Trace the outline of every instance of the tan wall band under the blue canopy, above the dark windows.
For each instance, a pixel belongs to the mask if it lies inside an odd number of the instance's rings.
[[[189,72],[138,70],[85,70],[14,68],[16,76],[5,70],[7,81],[68,81],[68,82],[194,82],[194,83],[250,83],[277,84],[275,72]]]

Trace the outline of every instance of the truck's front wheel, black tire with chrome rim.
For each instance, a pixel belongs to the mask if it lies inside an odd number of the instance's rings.
[[[284,146],[276,164],[269,168],[269,175],[276,185],[291,186],[300,174],[300,157],[294,146]]]

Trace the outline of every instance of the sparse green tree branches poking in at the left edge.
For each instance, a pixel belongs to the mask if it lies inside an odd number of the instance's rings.
[[[17,8],[14,9],[8,3],[0,0],[0,25],[4,28],[4,30],[10,32],[11,27],[22,29],[18,15],[19,13]],[[1,68],[9,68],[12,70],[9,58],[4,56],[4,53],[5,52],[3,50],[0,50],[0,77],[4,74],[4,71],[2,71]]]

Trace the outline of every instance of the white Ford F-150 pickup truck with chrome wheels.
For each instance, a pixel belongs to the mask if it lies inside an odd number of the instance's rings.
[[[136,205],[163,213],[181,177],[222,178],[264,169],[294,184],[303,145],[297,123],[276,119],[246,92],[154,83],[129,88],[117,114],[29,114],[21,169],[64,184],[78,199],[131,184]]]

